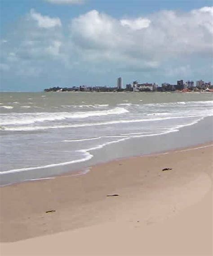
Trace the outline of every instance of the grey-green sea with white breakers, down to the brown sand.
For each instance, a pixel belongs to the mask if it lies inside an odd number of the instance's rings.
[[[3,92],[0,185],[211,141],[212,116],[212,93]]]

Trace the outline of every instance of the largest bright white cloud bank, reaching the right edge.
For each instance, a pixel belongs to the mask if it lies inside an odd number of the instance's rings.
[[[71,37],[82,50],[103,56],[107,52],[129,61],[208,54],[212,52],[212,10],[160,11],[149,17],[121,20],[93,10],[72,20]]]

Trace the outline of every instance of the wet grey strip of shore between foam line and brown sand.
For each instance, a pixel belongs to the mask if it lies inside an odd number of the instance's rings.
[[[55,166],[46,169],[29,170],[18,173],[1,173],[1,186],[18,184],[33,179],[53,178],[60,175],[87,172],[95,165],[107,163],[113,160],[137,157],[140,155],[152,155],[160,152],[173,151],[195,145],[212,142],[212,117],[205,117],[199,122],[184,126],[174,133],[165,133],[156,136],[130,138],[122,142],[103,146],[101,149],[88,151],[93,155],[90,160],[71,164]],[[205,133],[201,131],[205,130]]]

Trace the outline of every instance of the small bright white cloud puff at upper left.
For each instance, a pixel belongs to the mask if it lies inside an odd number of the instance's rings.
[[[34,9],[31,9],[30,17],[37,22],[39,27],[51,28],[62,26],[60,18],[49,18],[48,16],[42,16],[41,14],[36,13]]]

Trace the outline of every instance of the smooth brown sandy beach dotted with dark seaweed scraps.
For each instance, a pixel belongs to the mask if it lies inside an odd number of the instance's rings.
[[[210,256],[212,153],[199,145],[1,187],[1,255]]]

